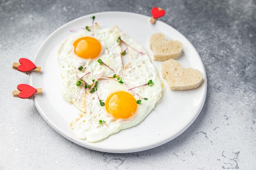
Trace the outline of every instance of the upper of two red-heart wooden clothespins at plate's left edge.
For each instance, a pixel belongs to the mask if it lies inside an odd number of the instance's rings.
[[[28,74],[30,71],[40,72],[41,67],[37,67],[33,62],[27,58],[20,58],[20,63],[14,62],[12,68],[22,73]]]

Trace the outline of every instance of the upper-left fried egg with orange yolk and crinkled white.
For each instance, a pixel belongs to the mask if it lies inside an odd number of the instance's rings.
[[[85,73],[90,72],[83,78],[88,84],[92,83],[99,73],[101,77],[112,77],[113,74],[120,74],[123,65],[121,61],[121,47],[117,42],[119,30],[102,29],[97,24],[94,25],[94,35],[92,31],[81,29],[72,33],[63,41],[58,50],[58,64],[61,71],[63,97],[73,103],[81,111],[85,112],[85,90],[81,86],[76,86],[76,72],[80,78]],[[110,68],[100,65],[97,62],[101,59]],[[85,70],[79,71],[83,66]],[[84,85],[83,85],[84,86]]]

